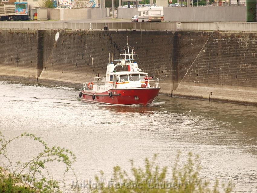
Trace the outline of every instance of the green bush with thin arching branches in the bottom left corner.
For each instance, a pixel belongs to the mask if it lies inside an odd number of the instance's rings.
[[[25,137],[37,141],[43,146],[43,151],[35,155],[28,162],[22,163],[17,161],[13,163],[12,157],[9,157],[6,147],[11,141]],[[0,167],[0,192],[5,193],[61,192],[58,181],[49,179],[49,171],[45,164],[54,161],[63,163],[66,166],[63,174],[65,175],[67,171],[73,170],[71,165],[76,160],[75,155],[68,149],[48,147],[41,138],[33,134],[23,133],[10,140],[6,140],[1,131],[0,158],[2,158],[3,163],[3,166]],[[43,173],[47,173],[47,176]]]

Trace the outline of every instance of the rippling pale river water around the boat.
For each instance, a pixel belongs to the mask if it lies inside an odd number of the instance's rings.
[[[113,166],[129,170],[130,159],[143,167],[154,153],[160,166],[172,168],[180,150],[182,162],[189,151],[200,155],[203,179],[230,180],[235,192],[257,192],[257,107],[166,95],[148,107],[95,105],[78,94],[75,88],[0,81],[0,130],[6,138],[29,132],[69,148],[79,181],[94,180],[100,170],[110,179]],[[24,139],[8,147],[21,161],[39,149]],[[49,168],[63,179],[62,164]],[[65,180],[69,192],[76,178],[68,174]]]

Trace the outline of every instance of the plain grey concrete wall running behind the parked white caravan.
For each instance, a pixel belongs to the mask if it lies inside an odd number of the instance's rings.
[[[166,7],[165,22],[246,22],[246,6]],[[118,8],[117,18],[131,19],[137,8]]]

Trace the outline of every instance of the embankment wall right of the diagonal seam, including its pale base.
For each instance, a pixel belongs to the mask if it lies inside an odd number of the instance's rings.
[[[257,34],[213,33],[175,96],[257,103]]]

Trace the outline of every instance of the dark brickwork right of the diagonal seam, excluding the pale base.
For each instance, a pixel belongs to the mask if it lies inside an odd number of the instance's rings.
[[[257,34],[214,33],[184,82],[257,85]]]

